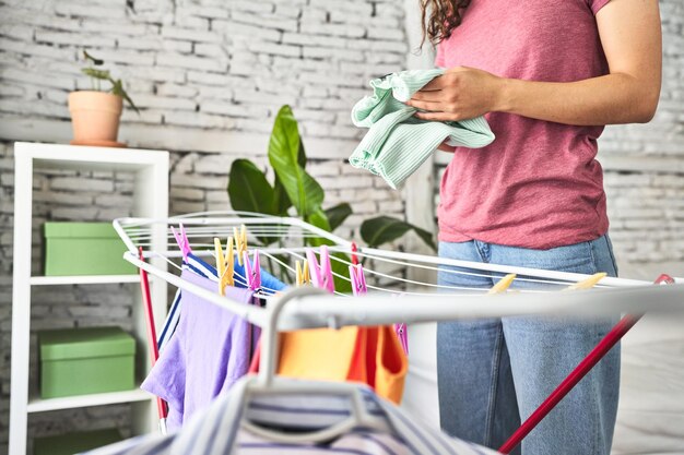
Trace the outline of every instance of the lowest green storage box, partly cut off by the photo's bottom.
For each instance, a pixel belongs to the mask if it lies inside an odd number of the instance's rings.
[[[73,455],[121,441],[116,429],[86,431],[59,436],[36,438],[33,442],[34,455]]]

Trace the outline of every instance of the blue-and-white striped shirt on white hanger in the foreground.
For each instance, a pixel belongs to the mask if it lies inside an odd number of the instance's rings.
[[[490,448],[451,439],[411,420],[393,404],[362,387],[368,412],[381,418],[385,430],[357,428],[334,441],[283,444],[255,436],[240,428],[240,419],[280,431],[315,431],[347,418],[351,403],[344,396],[269,395],[245,404],[247,380],[236,383],[179,432],[148,435],[89,452],[89,455],[494,455]],[[247,406],[245,406],[247,405]]]

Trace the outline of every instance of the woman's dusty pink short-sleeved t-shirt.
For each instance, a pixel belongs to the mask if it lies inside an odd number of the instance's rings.
[[[437,67],[471,67],[528,81],[608,73],[594,14],[609,0],[474,0],[437,48]],[[496,140],[458,147],[441,180],[439,240],[476,239],[549,249],[608,231],[602,125],[573,127],[512,113],[485,115]]]

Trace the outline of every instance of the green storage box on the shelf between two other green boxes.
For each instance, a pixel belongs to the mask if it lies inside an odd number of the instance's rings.
[[[40,396],[86,395],[134,387],[135,340],[120,327],[38,332]]]

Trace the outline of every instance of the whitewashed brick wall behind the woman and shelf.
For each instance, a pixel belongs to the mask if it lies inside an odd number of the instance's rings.
[[[362,134],[351,127],[349,111],[367,93],[367,80],[405,68],[411,49],[404,4],[402,0],[0,2],[0,129],[5,132],[0,134],[0,454],[7,451],[9,414],[11,141],[68,140],[67,95],[90,87],[79,71],[80,47],[104,58],[141,107],[140,116],[125,110],[127,133],[120,139],[172,151],[172,214],[226,208],[232,160],[248,155],[266,165],[273,116],[287,103],[300,120],[305,145],[317,144],[307,146],[316,156],[308,169],[327,189],[326,205],[350,202],[355,209],[338,231],[351,237],[364,218],[378,213],[402,216],[404,209],[401,193],[341,159]],[[664,53],[660,109],[648,125],[609,128],[601,139],[602,154],[684,158],[684,2],[660,4]],[[47,124],[48,133],[33,123],[14,128],[24,119]],[[10,127],[2,129],[3,124]],[[36,244],[46,219],[109,220],[128,214],[132,182],[126,173],[46,171],[36,182]],[[611,235],[623,273],[684,262],[682,172],[609,169],[606,190]],[[39,248],[34,256],[37,271]],[[34,327],[103,323],[128,327],[130,291],[137,290],[130,286],[42,290],[35,296]],[[35,359],[32,371],[35,374]],[[126,430],[129,411],[128,406],[108,406],[38,415],[31,420],[31,434],[113,424]]]

